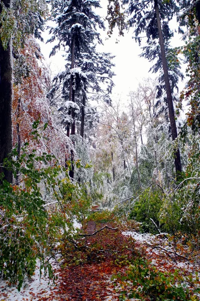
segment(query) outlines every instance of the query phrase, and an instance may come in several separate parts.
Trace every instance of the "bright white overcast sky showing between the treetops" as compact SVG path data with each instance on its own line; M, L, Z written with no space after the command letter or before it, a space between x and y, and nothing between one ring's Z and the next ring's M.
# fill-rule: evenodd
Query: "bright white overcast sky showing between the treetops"
M105 4L105 0L101 1L101 6L102 4ZM102 10L98 10L98 14L105 18L106 6ZM107 25L106 22L105 25ZM49 38L46 32L43 34L43 38L44 41ZM111 38L107 38L105 30L101 34L101 39L103 41L103 45L100 45L98 50L102 52L110 52L115 56L113 59L115 64L113 71L116 75L113 77L115 84L112 93L113 97L117 97L116 95L119 94L120 98L125 100L128 92L135 90L138 82L140 82L143 78L155 77L154 74L148 73L149 68L152 66L152 62L149 63L147 59L139 57L141 49L134 39L132 39L132 29L130 29L128 33L124 33L124 37L118 37L118 32L115 30ZM117 44L116 40L118 41ZM173 39L172 43L173 46L182 44L177 37ZM62 57L63 52L59 51L55 56L49 59L48 56L51 49L52 44L41 44L41 52L44 55L46 62L50 63L50 68L53 74L57 74L59 71L64 69L65 62ZM183 84L180 84L180 89L182 88Z

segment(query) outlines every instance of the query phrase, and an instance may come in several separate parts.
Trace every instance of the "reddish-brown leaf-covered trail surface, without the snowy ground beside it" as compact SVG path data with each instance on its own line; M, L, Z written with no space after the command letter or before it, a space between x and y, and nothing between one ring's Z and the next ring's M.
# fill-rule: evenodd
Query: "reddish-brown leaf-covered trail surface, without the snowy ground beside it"
M85 228L85 233L92 234L95 231L105 227L111 226L108 223L96 224L94 221L88 221ZM123 240L123 236L117 230L103 229L96 235L104 242L102 244L109 245L109 235L112 232L117 233L118 238ZM107 237L108 236L108 237ZM87 244L93 243L94 236L87 238ZM124 242L127 238L124 236ZM110 246L109 246L110 247ZM73 265L70 267L61 268L58 273L58 288L51 290L50 295L47 297L41 296L38 301L51 301L51 300L74 300L74 301L91 301L91 300L119 300L118 293L114 291L114 286L110 281L112 274L122 270L122 267L118 267L113 264L113 258L109 252L105 252L103 260L97 258L97 254L94 252L91 258L87 258L89 263L83 263L82 265Z

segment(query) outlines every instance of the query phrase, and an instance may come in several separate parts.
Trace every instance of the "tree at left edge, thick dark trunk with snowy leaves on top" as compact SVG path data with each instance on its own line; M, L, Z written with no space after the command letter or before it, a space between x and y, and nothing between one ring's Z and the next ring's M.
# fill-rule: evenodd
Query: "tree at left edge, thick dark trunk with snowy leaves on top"
M12 148L12 44L23 43L27 34L39 37L38 28L45 14L45 1L3 0L0 3L0 173L12 182L11 172L2 168Z

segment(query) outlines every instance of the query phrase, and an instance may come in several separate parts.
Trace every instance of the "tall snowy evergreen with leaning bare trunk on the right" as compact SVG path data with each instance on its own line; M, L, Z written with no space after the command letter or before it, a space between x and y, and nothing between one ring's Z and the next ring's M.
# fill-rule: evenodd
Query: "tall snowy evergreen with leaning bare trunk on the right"
M140 33L146 33L147 46L143 47L141 56L150 61L154 60L154 58L158 59L158 62L152 67L152 70L155 72L162 66L163 75L161 80L164 80L164 86L159 85L158 97L163 93L160 88L164 88L172 140L175 140L177 138L177 129L172 92L173 88L177 87L178 76L181 73L178 65L167 63L167 51L169 50L169 41L172 37L168 22L172 19L175 12L178 11L178 6L176 2L163 2L161 0L123 0L122 3L128 4L127 13L130 15L128 24L130 27L134 27L135 40L140 42ZM170 68L171 72L169 72ZM176 176L178 177L181 172L179 148L174 150L174 163Z

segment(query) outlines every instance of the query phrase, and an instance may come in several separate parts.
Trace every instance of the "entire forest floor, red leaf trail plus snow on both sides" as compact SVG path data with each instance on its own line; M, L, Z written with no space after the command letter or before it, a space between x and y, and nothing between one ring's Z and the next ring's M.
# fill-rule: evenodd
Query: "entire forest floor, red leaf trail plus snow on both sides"
M111 276L123 275L130 264L129 260L136 256L151 261L160 271L174 272L179 269L183 275L194 275L200 270L199 253L193 250L188 254L188 246L177 241L174 252L173 240L164 234L141 234L133 224L117 227L116 224L94 221L88 221L83 232L86 235L81 236L84 243L81 242L80 247L75 246L71 254L66 254L61 265L52 262L56 274L54 284L50 282L48 285L48 278L44 275L39 280L37 266L35 274L20 292L1 280L0 301L119 300L124 282L118 281L115 285ZM69 266L68 262L74 264ZM130 289L128 284L125 285L127 290Z

